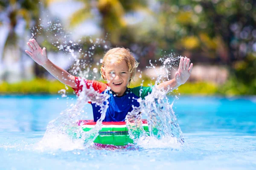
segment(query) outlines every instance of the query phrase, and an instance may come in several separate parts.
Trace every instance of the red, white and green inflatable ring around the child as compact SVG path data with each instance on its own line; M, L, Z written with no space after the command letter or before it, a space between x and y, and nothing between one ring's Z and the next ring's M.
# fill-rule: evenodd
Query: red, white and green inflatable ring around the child
M143 119L142 123L144 130L148 132L148 122ZM96 122L93 122L93 120L79 120L77 124L84 131L89 131L94 128ZM102 129L99 130L99 136L93 142L96 144L113 144L115 146L134 143L128 134L125 122L102 122Z

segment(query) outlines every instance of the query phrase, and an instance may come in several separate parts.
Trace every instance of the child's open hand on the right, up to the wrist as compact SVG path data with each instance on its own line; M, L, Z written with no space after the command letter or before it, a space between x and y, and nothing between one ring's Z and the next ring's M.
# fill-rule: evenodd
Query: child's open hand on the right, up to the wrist
M178 84L184 84L192 72L193 63L190 64L190 59L187 57L180 58L180 65L175 73L175 80Z

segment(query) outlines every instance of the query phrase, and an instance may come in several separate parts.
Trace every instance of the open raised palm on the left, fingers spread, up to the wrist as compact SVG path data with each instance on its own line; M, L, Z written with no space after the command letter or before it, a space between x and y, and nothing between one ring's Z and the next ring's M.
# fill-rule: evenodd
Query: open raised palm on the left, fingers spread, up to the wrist
M29 49L31 52L25 50L26 54L29 55L35 62L37 62L39 65L44 65L48 61L46 49L38 45L38 43L35 41L35 39L29 40L29 42L26 43L29 46Z

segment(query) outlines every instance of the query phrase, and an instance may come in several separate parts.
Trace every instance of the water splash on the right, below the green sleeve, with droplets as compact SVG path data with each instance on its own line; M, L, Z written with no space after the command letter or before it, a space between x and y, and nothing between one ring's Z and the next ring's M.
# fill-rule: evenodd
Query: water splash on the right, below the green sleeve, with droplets
M169 79L167 68L172 68L177 58L169 55L166 59L160 59L160 61L163 62L160 70L165 71L166 74L159 74L155 82L156 84L161 82L163 78ZM153 64L151 64L151 68L155 68ZM184 144L182 131L172 110L174 101L172 104L169 103L166 91L157 89L154 86L151 94L145 96L144 100L138 99L138 102L140 102L140 107L134 108L125 119L129 135L137 146L144 148L177 148ZM145 115L148 120L148 134L142 127L142 115Z

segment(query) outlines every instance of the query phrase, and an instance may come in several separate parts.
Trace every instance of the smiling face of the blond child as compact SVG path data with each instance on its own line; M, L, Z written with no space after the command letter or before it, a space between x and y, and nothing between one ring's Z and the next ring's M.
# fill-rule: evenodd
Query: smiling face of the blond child
M102 69L102 75L107 79L108 86L117 96L122 96L125 93L131 77L125 60L105 65L105 68Z

